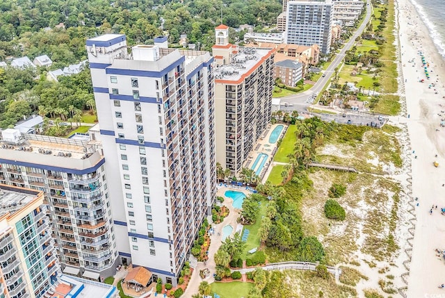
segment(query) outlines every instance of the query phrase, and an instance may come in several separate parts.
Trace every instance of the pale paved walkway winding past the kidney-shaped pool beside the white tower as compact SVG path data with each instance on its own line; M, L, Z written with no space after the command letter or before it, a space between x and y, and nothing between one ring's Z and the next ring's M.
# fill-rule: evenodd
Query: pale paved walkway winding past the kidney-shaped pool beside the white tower
M215 229L215 233L210 236L211 242L209 247L209 260L207 260L206 265L204 265L203 262L197 263L183 297L192 297L192 295L196 294L200 287L201 281L207 281L208 283L213 283L213 281L215 281L213 278L213 273L216 273L216 265L215 261L213 260L213 256L216 254L216 251L218 251L222 244L221 238L223 236L223 227L227 225L232 226L234 228L232 235L236 231L236 226L238 225L236 220L240 215L240 211L232 206L233 200L225 197L224 193L227 190L236 190L243 192L246 195L251 193L248 190L245 190L245 188L225 188L220 186L217 186L217 188L218 191L216 192L216 195L224 198L223 206L229 208L229 215L225 217L224 221L220 224L211 224L211 226ZM211 222L211 218L209 219L209 222ZM206 279L202 279L200 276L200 270L203 270L204 268L208 268L210 270L210 275L207 276Z

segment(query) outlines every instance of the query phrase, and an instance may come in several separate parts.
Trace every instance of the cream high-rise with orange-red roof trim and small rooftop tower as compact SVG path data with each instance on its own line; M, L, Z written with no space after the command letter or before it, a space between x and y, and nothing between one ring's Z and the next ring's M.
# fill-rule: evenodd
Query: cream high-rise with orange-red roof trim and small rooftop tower
M229 43L229 27L216 27L216 160L236 174L270 122L275 49Z

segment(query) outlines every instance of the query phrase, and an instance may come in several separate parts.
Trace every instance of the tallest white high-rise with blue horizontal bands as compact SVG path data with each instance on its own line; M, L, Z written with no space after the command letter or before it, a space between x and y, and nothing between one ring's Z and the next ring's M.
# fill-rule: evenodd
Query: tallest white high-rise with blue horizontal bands
M86 49L122 262L176 284L216 196L213 58L154 42Z

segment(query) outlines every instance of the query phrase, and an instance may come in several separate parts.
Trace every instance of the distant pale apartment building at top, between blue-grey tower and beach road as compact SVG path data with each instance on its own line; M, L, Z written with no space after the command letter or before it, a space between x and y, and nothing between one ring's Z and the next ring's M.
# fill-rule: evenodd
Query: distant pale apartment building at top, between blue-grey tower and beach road
M352 27L364 9L361 0L333 0L332 22L341 26Z

